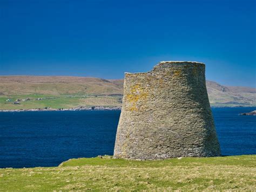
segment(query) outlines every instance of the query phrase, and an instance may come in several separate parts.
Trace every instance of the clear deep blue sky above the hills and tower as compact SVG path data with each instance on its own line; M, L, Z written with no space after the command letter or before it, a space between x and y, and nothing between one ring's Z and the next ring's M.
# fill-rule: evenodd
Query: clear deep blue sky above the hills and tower
M0 75L119 79L161 60L256 87L256 1L0 1Z

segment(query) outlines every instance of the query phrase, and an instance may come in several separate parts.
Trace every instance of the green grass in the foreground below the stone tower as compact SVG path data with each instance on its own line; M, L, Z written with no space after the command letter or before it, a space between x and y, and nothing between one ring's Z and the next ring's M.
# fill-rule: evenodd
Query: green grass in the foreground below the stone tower
M0 169L0 190L256 190L256 155L158 161L71 159L59 167Z

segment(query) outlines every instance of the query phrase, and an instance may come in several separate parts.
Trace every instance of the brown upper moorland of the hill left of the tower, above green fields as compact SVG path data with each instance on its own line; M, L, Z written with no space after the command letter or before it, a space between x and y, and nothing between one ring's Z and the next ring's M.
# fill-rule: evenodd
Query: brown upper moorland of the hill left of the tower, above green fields
M0 94L122 94L117 84L91 77L0 76Z

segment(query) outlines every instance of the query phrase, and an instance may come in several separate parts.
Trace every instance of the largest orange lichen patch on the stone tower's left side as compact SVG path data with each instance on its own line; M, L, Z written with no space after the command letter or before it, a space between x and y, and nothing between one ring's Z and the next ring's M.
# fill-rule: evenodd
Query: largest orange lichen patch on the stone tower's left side
M127 101L129 111L138 111L138 101L145 100L149 94L139 84L133 85L130 88L130 93L124 98Z

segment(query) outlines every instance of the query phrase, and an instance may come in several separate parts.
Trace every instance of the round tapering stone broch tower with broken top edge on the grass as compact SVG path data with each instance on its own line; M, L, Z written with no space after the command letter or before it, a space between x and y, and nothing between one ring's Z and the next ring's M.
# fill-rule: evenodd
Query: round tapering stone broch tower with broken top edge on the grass
M219 155L203 63L161 61L150 72L125 73L115 158Z

